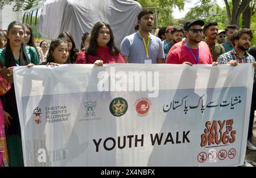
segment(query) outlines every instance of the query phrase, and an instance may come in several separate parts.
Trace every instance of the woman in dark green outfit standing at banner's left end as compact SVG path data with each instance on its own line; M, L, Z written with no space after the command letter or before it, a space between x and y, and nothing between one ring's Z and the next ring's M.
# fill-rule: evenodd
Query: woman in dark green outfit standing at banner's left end
M23 44L25 28L26 26L20 22L11 22L7 31L6 48L0 49L1 67L5 66L9 69L10 75L13 73L14 66L29 66L31 63L38 65L39 62L35 48ZM14 84L11 84L11 89L1 99L3 99L3 107L6 111L6 138L10 166L23 166L22 141Z

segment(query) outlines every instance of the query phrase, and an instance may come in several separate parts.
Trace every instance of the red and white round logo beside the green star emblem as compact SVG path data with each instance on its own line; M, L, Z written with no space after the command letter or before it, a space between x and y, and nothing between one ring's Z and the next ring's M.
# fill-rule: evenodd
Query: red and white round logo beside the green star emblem
M151 101L148 98L141 98L134 105L139 116L146 116L150 110Z

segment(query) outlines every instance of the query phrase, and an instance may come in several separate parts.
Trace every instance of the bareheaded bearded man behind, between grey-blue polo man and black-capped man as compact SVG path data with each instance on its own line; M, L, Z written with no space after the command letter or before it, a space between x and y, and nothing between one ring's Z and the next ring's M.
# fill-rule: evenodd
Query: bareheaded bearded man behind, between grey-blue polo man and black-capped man
M179 43L184 37L184 29L182 27L174 27L171 30L172 41L164 45L164 57L167 57L169 50L176 43Z

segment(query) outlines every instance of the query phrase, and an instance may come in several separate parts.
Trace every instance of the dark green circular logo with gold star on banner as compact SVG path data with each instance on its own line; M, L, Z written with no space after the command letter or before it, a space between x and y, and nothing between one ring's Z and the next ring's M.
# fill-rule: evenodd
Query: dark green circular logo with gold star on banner
M123 98L115 98L109 105L109 110L115 117L123 116L128 109L128 103Z

